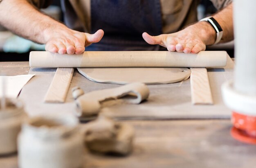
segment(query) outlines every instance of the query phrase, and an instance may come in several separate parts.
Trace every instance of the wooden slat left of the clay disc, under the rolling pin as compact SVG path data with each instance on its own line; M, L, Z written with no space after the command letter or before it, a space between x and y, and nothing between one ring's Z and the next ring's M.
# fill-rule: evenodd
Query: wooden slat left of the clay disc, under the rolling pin
M74 68L57 68L52 83L45 96L46 103L64 103Z

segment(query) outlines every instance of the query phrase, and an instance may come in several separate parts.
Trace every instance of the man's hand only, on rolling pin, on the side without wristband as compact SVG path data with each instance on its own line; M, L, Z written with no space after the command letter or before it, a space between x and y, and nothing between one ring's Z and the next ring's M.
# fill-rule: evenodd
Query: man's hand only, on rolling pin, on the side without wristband
M104 35L103 30L98 30L94 34L82 33L71 30L67 27L59 30L50 29L50 33L45 31L46 45L45 50L50 52L58 52L60 54L81 54L85 47L92 43L97 43Z

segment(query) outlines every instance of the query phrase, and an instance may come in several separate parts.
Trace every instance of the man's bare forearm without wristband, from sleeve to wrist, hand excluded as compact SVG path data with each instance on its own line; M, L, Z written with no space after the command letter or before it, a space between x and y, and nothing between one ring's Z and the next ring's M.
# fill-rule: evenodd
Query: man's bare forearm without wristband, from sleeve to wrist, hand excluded
M2 0L0 24L17 35L41 44L45 44L49 39L47 31L50 27L66 28L65 25L40 13L26 0Z

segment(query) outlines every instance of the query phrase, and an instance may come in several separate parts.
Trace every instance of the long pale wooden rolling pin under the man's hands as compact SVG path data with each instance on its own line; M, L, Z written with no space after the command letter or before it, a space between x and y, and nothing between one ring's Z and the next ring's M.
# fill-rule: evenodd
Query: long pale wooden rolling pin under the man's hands
M32 51L30 67L92 68L92 67L223 67L225 51L201 51L198 54L169 51L85 51L80 55L60 55Z

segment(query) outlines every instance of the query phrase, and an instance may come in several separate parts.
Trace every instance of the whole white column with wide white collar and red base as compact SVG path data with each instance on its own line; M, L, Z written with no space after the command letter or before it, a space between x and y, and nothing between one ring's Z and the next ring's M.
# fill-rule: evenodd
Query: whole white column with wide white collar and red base
M231 135L251 144L256 144L255 6L251 0L234 2L235 76L222 85L224 102L233 111Z

